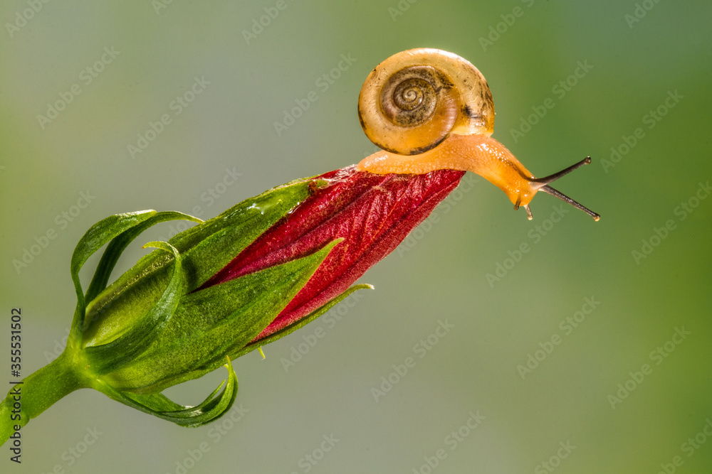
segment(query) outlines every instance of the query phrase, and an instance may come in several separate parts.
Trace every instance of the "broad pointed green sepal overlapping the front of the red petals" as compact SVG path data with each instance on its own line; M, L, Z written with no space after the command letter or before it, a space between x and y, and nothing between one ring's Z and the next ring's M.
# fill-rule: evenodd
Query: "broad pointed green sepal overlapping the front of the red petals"
M341 240L184 296L159 338L130 365L103 378L118 389L155 393L215 370L278 316Z

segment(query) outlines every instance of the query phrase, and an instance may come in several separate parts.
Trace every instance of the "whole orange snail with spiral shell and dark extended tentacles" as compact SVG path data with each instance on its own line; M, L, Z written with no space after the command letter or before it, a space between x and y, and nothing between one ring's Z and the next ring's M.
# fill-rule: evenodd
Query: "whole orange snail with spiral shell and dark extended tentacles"
M496 139L494 102L487 81L468 60L447 51L419 48L376 66L361 89L361 126L382 151L364 158L359 171L422 174L438 169L472 171L503 190L532 219L529 203L543 191L599 220L549 184L591 163L591 158L545 178L535 178Z

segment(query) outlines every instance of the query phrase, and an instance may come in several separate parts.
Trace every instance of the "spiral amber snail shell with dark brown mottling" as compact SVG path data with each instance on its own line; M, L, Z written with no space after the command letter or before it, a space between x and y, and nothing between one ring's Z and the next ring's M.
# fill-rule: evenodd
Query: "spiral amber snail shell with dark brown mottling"
M489 136L494 129L492 92L481 72L431 48L377 65L361 89L358 114L368 138L399 155L423 153L451 134Z

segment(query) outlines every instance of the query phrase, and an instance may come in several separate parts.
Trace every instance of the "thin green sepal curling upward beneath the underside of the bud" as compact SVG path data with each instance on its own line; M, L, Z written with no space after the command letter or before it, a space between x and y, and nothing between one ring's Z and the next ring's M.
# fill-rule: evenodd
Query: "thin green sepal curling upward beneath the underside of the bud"
M166 421L172 421L179 426L195 428L218 419L228 411L237 397L237 375L230 359L224 367L228 370L228 378L221 382L204 401L197 406L182 406L172 402L162 394L131 394L120 392L109 384L99 383L94 388L111 399L127 406L157 416ZM227 383L226 383L227 382ZM220 389L224 389L220 392Z

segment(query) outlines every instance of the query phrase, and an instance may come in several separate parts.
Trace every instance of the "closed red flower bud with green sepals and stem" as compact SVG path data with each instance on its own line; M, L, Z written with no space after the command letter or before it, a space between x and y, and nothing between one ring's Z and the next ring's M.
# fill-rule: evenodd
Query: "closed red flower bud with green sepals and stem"
M80 239L71 261L77 293L67 348L26 379L21 425L74 389L200 426L234 402L231 359L313 321L454 190L462 171L376 175L355 166L268 190L202 222L180 212L112 215ZM199 222L108 285L118 258L147 228ZM79 271L107 244L86 292ZM198 406L160 392L224 365L229 377ZM57 374L57 377L53 377ZM9 408L8 399L0 414ZM6 426L0 424L0 436ZM6 439L6 437L5 437Z

